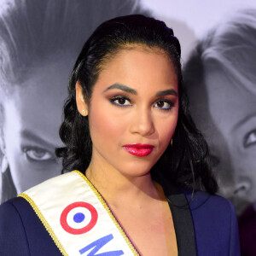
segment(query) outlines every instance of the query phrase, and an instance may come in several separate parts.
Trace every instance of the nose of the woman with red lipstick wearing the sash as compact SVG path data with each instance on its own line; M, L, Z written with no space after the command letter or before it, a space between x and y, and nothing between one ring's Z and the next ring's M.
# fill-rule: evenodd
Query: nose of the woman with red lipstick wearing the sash
M147 110L135 113L130 127L131 133L138 133L141 136L149 136L154 133L154 120L152 113Z

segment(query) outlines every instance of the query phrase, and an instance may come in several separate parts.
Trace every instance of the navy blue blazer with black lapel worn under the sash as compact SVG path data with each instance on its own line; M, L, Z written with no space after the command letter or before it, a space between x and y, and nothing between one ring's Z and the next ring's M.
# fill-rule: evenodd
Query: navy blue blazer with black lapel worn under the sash
M230 201L205 192L165 190L172 210L179 256L239 256L236 213ZM60 256L44 225L20 197L0 206L1 256Z

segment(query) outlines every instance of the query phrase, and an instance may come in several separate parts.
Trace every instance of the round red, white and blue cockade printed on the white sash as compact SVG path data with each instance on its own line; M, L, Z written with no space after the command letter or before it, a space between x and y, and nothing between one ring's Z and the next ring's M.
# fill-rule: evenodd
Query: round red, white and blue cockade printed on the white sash
M61 227L73 235L81 235L90 231L97 222L98 212L91 204L77 201L68 205L61 212Z

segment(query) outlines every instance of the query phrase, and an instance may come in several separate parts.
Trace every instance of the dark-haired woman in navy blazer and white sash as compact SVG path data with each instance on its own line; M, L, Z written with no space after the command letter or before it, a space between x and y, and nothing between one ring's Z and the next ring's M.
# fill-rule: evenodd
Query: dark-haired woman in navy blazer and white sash
M213 195L172 29L143 15L104 22L68 90L66 147L56 151L67 173L0 207L3 253L239 255L234 208Z

